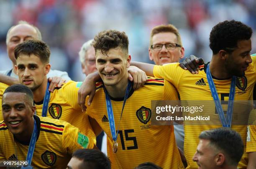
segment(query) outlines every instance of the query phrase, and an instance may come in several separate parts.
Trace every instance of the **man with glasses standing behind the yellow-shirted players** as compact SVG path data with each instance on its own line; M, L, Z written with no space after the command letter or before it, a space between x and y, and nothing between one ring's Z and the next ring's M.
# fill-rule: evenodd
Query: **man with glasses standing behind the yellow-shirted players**
M184 47L179 30L172 24L159 25L151 30L149 42L149 59L156 65L179 62L184 57ZM175 123L175 122L174 122ZM181 151L184 149L183 125L174 125L176 144ZM186 161L181 152L182 160Z

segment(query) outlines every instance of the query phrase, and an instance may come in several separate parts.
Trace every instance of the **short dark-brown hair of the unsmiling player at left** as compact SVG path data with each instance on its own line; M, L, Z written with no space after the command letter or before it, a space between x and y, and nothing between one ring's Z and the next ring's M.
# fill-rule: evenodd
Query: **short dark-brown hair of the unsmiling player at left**
M15 59L21 54L29 56L34 54L38 56L43 63L49 63L51 52L49 46L41 40L25 40L14 49Z

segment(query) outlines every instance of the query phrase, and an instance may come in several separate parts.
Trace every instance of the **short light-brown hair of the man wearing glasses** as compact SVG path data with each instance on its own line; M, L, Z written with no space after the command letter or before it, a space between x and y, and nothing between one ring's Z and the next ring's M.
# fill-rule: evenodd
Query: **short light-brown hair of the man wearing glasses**
M178 44L182 46L182 40L181 40L181 37L179 35L179 30L174 25L172 25L172 24L159 25L159 26L154 27L151 30L149 46L153 45L152 44L152 38L157 33L174 33L177 36Z

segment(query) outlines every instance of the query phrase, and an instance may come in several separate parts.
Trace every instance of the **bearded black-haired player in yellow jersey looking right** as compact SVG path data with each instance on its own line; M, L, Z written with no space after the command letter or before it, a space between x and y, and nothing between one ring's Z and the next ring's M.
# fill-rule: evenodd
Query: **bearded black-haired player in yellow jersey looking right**
M207 65L210 65L210 73L221 100L229 99L232 76L237 76L235 100L249 100L256 82L256 56L250 55L251 34L252 29L250 27L235 20L224 21L215 25L210 33L212 60L202 66L199 73L195 75L180 68L179 63L165 66L154 66L146 63L134 63L133 65L146 71L149 76L154 75L171 82L177 88L181 100L213 100L206 76ZM218 118L214 106L210 107L209 110L207 109L207 112ZM220 126L184 126L184 154L188 163L187 168L197 168L197 164L192 161L199 141L197 136L201 131L217 127ZM241 134L246 145L247 126L231 125L231 128ZM238 164L239 169L246 168L246 156L247 154L244 153Z

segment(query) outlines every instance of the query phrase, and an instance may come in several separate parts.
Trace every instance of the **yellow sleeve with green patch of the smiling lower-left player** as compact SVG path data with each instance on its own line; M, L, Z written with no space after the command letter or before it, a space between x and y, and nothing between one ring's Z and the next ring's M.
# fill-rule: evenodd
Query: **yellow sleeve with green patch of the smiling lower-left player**
M92 134L81 133L79 129L72 126L69 123L64 125L64 130L62 134L62 147L68 153L72 154L77 149L93 149L95 147Z

